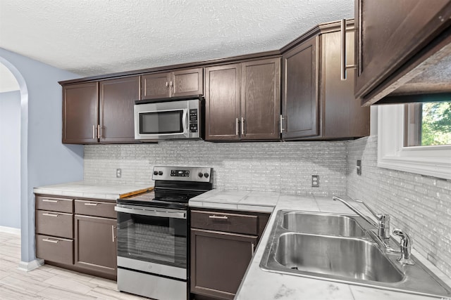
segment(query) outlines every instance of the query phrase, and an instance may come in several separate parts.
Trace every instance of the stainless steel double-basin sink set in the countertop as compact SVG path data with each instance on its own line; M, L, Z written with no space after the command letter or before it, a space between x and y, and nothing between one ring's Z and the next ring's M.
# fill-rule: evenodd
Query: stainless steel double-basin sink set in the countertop
M371 230L373 226L357 215L278 211L260 268L412 294L451 296L450 287L415 257L414 266L397 262L399 244L390 240L393 247L381 247Z

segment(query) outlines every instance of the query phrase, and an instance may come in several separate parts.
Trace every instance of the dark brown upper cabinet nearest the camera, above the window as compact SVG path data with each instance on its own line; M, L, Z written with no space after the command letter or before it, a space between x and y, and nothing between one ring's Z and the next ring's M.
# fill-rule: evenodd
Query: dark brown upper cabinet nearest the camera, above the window
M355 18L362 105L451 98L451 1L356 0Z

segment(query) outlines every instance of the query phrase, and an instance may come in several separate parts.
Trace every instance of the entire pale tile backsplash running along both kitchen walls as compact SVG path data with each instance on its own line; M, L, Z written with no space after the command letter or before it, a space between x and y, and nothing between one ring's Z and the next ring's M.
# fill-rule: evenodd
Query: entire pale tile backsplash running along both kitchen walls
M357 159L362 175L357 175ZM451 181L377 167L377 136L355 141L85 145L85 181L149 184L156 165L214 168L214 187L348 195L392 217L414 248L451 277ZM116 178L116 169L122 177ZM319 188L311 187L319 175Z

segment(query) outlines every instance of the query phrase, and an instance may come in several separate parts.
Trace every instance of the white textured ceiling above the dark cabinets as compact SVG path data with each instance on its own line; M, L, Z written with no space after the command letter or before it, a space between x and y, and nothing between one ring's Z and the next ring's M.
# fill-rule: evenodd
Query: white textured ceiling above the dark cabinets
M91 76L276 50L354 0L0 0L0 48Z

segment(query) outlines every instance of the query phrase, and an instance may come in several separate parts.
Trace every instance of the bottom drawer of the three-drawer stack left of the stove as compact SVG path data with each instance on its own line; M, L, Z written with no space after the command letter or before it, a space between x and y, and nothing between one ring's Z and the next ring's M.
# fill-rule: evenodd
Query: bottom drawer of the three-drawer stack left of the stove
M73 264L73 240L36 235L36 257L71 265Z

